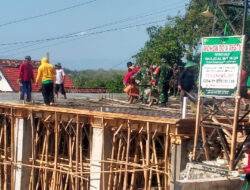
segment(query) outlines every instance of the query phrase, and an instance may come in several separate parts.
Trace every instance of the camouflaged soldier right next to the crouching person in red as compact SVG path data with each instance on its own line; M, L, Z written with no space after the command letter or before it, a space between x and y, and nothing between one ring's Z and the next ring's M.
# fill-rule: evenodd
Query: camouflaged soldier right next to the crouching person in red
M136 80L139 80L139 95L142 103L146 104L148 97L144 95L144 89L150 87L151 72L147 63L143 64L143 67L136 73Z

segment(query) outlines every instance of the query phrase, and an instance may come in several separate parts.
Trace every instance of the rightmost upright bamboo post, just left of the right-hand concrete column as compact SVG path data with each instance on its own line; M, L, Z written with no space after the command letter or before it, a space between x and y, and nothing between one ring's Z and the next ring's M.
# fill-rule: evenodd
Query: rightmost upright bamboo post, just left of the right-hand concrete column
M169 124L166 126L166 134L165 134L165 152L164 152L164 187L165 190L168 190L168 151L169 151ZM169 172L168 172L169 173Z

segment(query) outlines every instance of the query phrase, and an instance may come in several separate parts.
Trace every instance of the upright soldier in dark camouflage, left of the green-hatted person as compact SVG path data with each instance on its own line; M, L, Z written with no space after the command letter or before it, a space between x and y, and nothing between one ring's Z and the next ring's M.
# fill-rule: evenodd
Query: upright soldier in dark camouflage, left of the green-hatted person
M159 66L159 81L158 81L158 88L159 88L159 101L160 106L165 107L166 102L168 101L168 91L169 91L169 82L171 79L171 68L166 63L164 59L160 60L160 66Z

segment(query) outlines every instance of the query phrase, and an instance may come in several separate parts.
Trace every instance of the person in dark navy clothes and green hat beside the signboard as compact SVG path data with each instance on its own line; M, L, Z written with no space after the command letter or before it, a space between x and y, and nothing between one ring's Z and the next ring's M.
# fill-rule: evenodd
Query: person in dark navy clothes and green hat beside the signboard
M189 100L194 103L194 100L190 98L190 95L192 97L195 97L195 73L194 73L194 67L197 66L196 63L192 61L188 61L186 65L184 66L185 70L183 70L179 76L178 79L178 88L180 89L180 99L181 99L181 108L183 103L183 98L187 96Z

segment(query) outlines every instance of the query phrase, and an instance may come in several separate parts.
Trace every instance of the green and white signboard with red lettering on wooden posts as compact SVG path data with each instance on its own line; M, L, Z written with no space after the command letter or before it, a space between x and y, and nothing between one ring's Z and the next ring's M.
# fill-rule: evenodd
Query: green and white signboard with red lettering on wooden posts
M244 36L202 38L199 96L237 97Z

